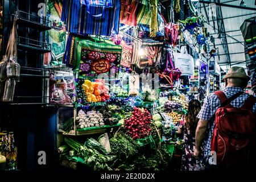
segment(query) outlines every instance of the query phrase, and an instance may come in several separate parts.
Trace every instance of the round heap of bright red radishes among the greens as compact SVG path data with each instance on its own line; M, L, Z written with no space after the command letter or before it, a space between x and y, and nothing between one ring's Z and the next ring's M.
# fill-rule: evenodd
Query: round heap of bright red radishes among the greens
M147 109L134 108L133 115L125 119L126 134L133 139L148 137L151 133L152 116Z

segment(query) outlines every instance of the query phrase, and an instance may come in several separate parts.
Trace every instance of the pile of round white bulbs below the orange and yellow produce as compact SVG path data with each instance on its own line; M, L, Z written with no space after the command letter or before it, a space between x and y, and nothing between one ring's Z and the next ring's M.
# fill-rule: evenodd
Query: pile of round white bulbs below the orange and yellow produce
M79 110L78 116L76 117L77 123L81 129L86 127L104 126L103 115L100 111L87 111Z

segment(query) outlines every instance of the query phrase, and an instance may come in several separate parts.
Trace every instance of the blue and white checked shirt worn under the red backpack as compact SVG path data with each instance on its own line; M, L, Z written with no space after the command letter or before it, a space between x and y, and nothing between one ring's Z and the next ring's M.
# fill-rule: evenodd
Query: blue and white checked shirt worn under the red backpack
M223 92L225 93L226 97L229 98L238 92L243 92L243 90L238 87L228 87L225 88ZM249 94L243 93L241 96L230 102L230 104L234 107L242 107L243 103L247 100L248 97ZM221 102L218 99L217 95L214 93L210 94L207 98L205 98L204 105L200 110L199 114L197 115L197 118L209 121L217 111L218 107L220 107L220 105ZM253 112L256 113L256 104L253 106ZM206 158L210 152L210 140L212 139L212 133L214 130L213 123L214 121L209 121L209 135L207 139L207 144L205 146L204 158Z

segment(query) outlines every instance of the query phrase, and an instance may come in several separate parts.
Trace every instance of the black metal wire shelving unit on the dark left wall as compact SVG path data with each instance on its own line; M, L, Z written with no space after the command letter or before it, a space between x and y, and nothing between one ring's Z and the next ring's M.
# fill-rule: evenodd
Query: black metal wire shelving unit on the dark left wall
M14 19L17 24L18 62L21 67L20 79L16 83L14 100L10 105L46 106L49 104L50 69L43 69L43 65L39 60L40 54L51 52L51 44L43 42L43 31L50 30L52 22L45 17L24 11L12 13L10 16L11 22ZM24 55L22 55L23 53ZM34 62L28 63L28 59L32 60L28 53L36 53ZM35 89L31 90L31 85Z

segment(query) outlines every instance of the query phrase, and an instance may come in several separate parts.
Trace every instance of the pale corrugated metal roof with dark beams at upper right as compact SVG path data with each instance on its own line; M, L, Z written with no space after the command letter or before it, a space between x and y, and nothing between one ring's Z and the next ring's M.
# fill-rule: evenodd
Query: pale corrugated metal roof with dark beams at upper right
M208 3L203 3L203 2L208 2ZM228 64L228 51L224 49L224 47L221 45L221 39L218 38L217 34L217 20L213 16L211 16L211 10L210 7L214 6L209 6L209 2L214 3L214 1L210 0L204 0L200 1L200 3L197 4L197 7L200 8L199 11L201 11L201 14L204 15L204 17L209 17L209 23L205 23L205 27L208 28L208 32L215 38L215 44L218 45L218 51L220 54L220 60L218 60L218 56L216 56L216 59L218 60L219 64ZM226 5L234 5L234 6L240 6L241 0L220 0L216 1L221 4L226 4ZM245 7L254 7L255 6L255 1L252 0L243 0L245 3ZM204 5L205 4L205 9L207 16L205 14L204 10ZM225 32L226 32L226 40L228 43L228 49L230 53L230 61L231 64L238 63L241 61L245 61L245 55L244 53L244 46L243 46L243 36L242 32L240 31L240 27L242 23L246 20L249 19L253 16L256 16L256 11L255 10L246 10L246 9L239 9L237 7L226 7L220 5L220 9L222 12L222 18L223 18L223 23L225 27ZM217 9L215 11L220 11L220 9ZM220 17L218 17L220 18ZM216 30L214 31L214 27ZM224 36L224 35L221 35ZM225 55L224 55L225 54Z

